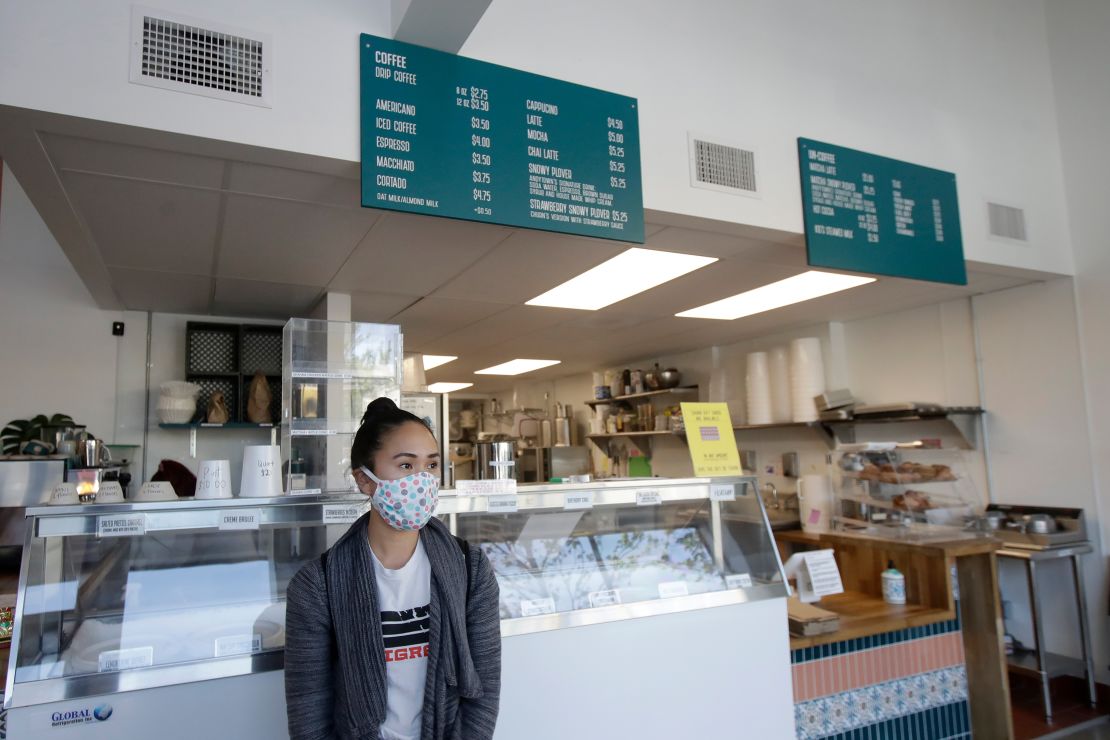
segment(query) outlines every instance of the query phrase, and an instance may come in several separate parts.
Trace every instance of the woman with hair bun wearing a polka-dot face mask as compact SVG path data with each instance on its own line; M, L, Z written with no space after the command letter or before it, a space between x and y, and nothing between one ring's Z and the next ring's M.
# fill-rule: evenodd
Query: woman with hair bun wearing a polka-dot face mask
M292 740L481 740L501 692L497 581L436 519L440 452L389 398L366 407L351 467L371 510L290 581Z

